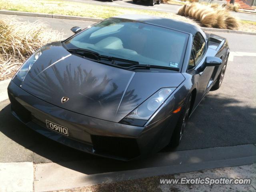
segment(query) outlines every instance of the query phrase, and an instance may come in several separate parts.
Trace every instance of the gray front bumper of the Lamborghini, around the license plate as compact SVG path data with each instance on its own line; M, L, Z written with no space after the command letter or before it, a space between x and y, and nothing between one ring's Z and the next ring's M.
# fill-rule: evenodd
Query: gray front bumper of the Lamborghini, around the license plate
M13 81L8 86L8 95L14 116L36 132L72 148L119 160L131 160L162 149L170 141L178 119L170 115L146 127L100 120L45 102ZM69 136L46 128L46 119L68 128Z

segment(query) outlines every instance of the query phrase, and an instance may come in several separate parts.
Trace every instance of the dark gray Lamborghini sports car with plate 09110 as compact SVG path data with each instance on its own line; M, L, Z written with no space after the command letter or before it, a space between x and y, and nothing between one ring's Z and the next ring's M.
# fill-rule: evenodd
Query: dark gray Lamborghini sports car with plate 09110
M131 160L177 146L220 87L225 38L167 18L124 15L37 50L8 86L12 113L44 136Z

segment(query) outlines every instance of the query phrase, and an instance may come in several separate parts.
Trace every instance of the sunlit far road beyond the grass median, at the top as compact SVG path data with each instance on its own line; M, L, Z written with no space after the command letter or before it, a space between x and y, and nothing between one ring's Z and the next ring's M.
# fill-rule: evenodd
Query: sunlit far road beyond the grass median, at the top
M162 11L162 12L170 12L170 13L177 13L178 9L180 8L180 5L170 5L170 4L148 6L147 2L143 2L143 1L138 1L137 4L134 4L132 0L114 0L114 2L108 2L106 0L105 1L104 0L65 0L65 1L84 2L84 3L96 4L96 5L108 5L108 6L115 6L115 7L135 8L135 9ZM230 13L241 20L256 21L256 14L237 13L237 12L230 12Z

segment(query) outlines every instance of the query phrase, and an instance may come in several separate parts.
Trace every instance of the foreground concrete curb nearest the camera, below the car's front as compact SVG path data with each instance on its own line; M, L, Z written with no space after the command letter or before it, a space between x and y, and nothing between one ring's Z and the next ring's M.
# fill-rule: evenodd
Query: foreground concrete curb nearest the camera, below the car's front
M254 163L256 156L226 159L218 161L200 162L194 164L181 164L172 166L152 167L120 172L108 172L102 174L86 175L55 163L36 164L36 176L34 182L35 192L65 190L77 187L92 186L97 184L110 184L124 180L135 180L160 175L172 175L201 171L223 167L242 166ZM58 174L48 176L51 170L57 170ZM62 182L53 182L54 180Z

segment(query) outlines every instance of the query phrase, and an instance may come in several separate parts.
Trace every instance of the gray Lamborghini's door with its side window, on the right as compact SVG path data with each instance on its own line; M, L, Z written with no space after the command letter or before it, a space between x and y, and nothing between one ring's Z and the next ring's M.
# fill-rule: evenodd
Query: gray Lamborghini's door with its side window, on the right
M195 103L200 102L211 87L210 79L214 67L204 66L206 56L206 42L202 35L198 32L193 38L192 51L187 71L189 74L194 76L194 83L197 84L197 97Z

